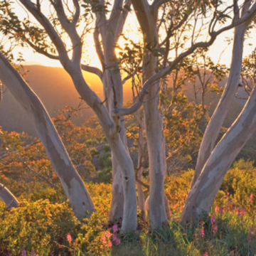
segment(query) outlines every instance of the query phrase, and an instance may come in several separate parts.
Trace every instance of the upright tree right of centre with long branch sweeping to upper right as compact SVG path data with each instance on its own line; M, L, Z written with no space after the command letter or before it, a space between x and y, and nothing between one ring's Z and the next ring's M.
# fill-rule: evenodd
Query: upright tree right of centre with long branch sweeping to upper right
M159 80L159 78L164 77L164 75L167 75L172 70L174 70L176 65L181 62L183 58L193 53L197 48L206 48L210 46L213 41L215 41L215 38L216 36L218 36L219 33L233 27L235 23L240 23L240 21L242 21L243 19L246 22L238 26L237 30L239 30L239 28L245 29L247 28L248 23L250 23L252 18L255 16L255 5L252 6L251 9L248 11L250 3L246 2L242 10L242 16L238 17L239 8L238 3L235 2L235 17L233 18L232 25L221 28L219 31L214 31L216 23L221 20L225 15L223 14L223 12L218 11L218 2L216 2L215 4L210 4L210 8L214 9L213 19L210 21L210 26L208 28L210 40L207 42L195 43L193 41L195 35L193 34L191 36L191 47L189 47L180 55L176 56L176 58L174 58L174 60L172 60L169 65L167 65L167 67L165 67L166 61L164 61L164 68L161 68L158 73L155 73L155 70L157 70L159 65L159 63L157 62L157 55L154 55L154 50L159 50L159 34L157 31L158 11L159 7L166 2L167 1L154 1L153 4L149 5L148 1L132 1L134 11L137 14L137 18L142 28L142 33L144 34L144 47L146 48L144 53L144 87L142 88L142 92L139 95L139 102L137 102L137 104L130 107L129 110L119 111L119 114L131 114L132 112L137 111L142 103L144 106L146 138L147 146L149 149L149 218L151 220L151 225L154 228L159 228L161 225L167 223L164 210L164 155L162 147L163 137L161 132L162 120L161 114L159 113L158 109L159 98L157 95L159 93L159 83L157 81ZM171 8L172 10L174 10L175 13L177 6L174 3L171 4ZM197 3L196 5L193 4L193 2L189 2L188 4L186 3L186 7L183 7L183 9L181 8L182 4L181 6L179 6L179 14L181 14L181 10L184 11L184 14L183 18L180 18L180 20L177 18L177 23L174 23L174 17L173 15L171 15L172 23L167 31L167 36L164 39L164 42L166 42L167 54L169 53L169 40L171 36L174 35L174 31L176 31L178 28L181 28L184 23L186 24L186 21L188 21L191 12L197 9L199 3ZM201 6L202 13L205 13L206 9L204 8L207 8L206 6L207 3L203 3L203 6ZM245 16L247 17L245 18ZM198 36L195 36L195 38L198 38ZM240 38L240 41L243 41L243 38ZM166 58L168 58L168 55L164 58L164 60L166 60ZM115 114L117 114L118 111L115 111ZM158 192L156 193L156 191Z

